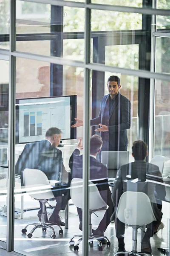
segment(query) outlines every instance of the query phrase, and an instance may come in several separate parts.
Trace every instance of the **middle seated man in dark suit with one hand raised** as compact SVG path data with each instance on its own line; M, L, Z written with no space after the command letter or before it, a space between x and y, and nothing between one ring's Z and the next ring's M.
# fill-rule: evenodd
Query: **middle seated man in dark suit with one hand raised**
M74 150L70 157L69 166L73 178L82 178L82 161L83 157L80 156L80 151L82 147L82 139L80 139L77 149ZM113 203L111 201L111 191L108 186L108 169L98 160L96 160L96 155L100 152L102 147L102 139L99 135L93 135L90 139L90 180L93 183L98 183L97 188L99 189L100 195L105 203L108 205L108 209L105 212L102 221L98 228L93 232L94 236L104 236L104 232L108 227L113 212ZM95 181L96 180L96 181ZM82 210L77 208L79 215L79 229L82 230ZM105 240L105 239L104 239ZM104 242L104 241L103 241Z

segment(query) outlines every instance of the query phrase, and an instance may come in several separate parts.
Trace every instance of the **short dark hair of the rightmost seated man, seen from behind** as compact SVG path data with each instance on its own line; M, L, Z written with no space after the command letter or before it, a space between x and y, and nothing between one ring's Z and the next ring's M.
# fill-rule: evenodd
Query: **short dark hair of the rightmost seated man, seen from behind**
M142 140L136 140L133 142L132 153L135 160L144 160L147 155L147 144Z

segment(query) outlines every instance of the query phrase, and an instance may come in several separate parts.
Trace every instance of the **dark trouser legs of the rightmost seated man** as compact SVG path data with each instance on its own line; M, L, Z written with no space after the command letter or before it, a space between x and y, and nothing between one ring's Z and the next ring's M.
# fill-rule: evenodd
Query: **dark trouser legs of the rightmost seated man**
M156 209L155 217L156 217L156 221L153 221L152 223L147 225L146 234L147 234L148 237L153 236L154 231L157 230L157 228L159 227L159 224L161 222L162 212L158 208ZM116 237L119 238L119 239L124 238L124 236L125 236L125 223L122 223L121 221L119 221L118 218L115 218L115 229L116 229Z

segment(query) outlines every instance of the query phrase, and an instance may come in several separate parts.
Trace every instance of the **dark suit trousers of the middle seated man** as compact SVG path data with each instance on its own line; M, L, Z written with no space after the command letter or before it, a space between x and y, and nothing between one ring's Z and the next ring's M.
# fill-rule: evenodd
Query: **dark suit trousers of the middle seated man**
M108 192L108 198L102 198L105 203L108 205L108 209L105 211L105 214L102 218L102 220L99 223L98 229L105 232L105 230L107 229L108 225L110 224L110 218L111 215L114 211L114 207L113 207L113 202L111 201L111 192ZM77 207L77 212L79 215L79 221L82 221L82 209Z

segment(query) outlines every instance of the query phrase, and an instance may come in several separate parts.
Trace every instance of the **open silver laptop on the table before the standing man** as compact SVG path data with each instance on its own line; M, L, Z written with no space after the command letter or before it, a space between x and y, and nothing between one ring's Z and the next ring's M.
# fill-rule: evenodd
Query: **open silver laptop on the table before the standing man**
M129 163L129 151L102 151L101 163L107 165L108 177L116 177L120 166Z

